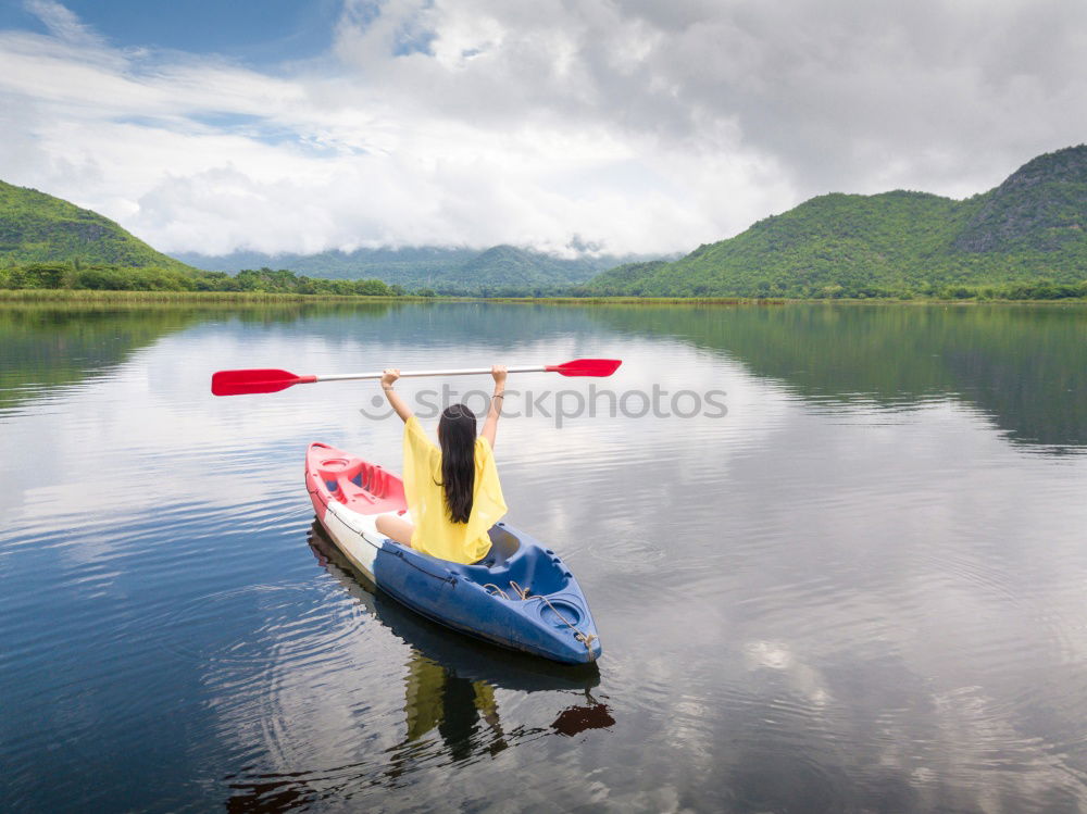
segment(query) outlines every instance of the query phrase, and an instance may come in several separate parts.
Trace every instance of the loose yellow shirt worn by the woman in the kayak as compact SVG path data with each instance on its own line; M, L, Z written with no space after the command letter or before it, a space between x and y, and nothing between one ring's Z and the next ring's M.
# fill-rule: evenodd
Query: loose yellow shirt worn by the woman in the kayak
M453 523L441 487L441 450L413 415L404 423L404 496L415 523L413 549L454 563L474 563L490 551L487 530L505 515L495 453L484 437L475 442L475 488L467 523Z

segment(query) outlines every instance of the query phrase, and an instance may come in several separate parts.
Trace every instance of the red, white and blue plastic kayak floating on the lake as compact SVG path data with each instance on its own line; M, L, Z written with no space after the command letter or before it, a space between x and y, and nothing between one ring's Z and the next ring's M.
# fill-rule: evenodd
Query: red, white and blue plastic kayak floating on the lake
M311 443L305 489L328 537L379 589L446 627L557 662L600 658L600 638L577 580L551 549L505 523L491 548L462 565L377 531L389 512L411 519L403 481L378 464Z

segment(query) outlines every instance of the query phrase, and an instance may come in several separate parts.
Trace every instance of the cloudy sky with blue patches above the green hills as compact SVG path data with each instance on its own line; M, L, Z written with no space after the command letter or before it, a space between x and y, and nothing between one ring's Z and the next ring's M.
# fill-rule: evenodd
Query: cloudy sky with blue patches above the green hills
M687 252L1087 141L1083 0L0 0L0 179L163 251Z

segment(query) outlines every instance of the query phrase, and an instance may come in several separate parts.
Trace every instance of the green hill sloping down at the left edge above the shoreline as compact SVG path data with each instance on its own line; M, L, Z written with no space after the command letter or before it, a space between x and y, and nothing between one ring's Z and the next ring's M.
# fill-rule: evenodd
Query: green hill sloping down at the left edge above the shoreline
M0 181L0 264L58 261L192 271L97 212Z

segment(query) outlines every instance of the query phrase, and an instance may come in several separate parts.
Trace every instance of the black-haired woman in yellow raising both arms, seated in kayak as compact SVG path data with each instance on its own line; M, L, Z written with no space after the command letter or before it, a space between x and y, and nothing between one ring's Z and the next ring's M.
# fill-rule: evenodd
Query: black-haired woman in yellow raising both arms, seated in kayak
M426 437L393 384L400 371L388 368L382 388L404 422L404 494L414 525L396 514L377 518L377 530L402 546L455 563L478 562L490 551L487 530L505 514L495 468L495 433L505 391L505 367L491 367L495 395L476 438L476 417L463 404L446 408L438 443Z

